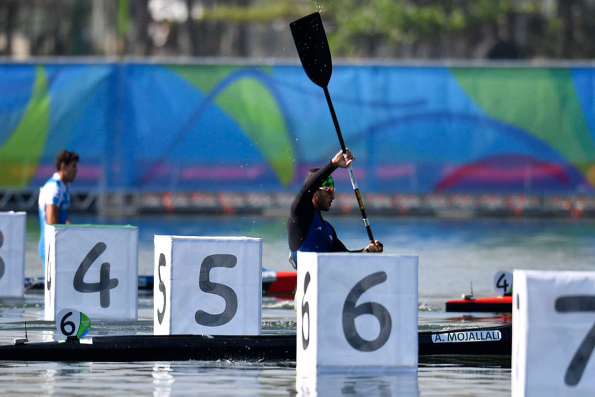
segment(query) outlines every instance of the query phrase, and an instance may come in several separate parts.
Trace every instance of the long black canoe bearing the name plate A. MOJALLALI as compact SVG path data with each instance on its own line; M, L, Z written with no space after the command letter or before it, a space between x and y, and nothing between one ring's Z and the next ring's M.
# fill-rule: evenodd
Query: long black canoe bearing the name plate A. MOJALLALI
M22 342L22 340L21 340ZM472 356L510 361L512 326L421 331L419 356ZM2 361L295 361L296 335L131 335L67 339L63 342L0 345ZM501 358L502 360L502 358Z

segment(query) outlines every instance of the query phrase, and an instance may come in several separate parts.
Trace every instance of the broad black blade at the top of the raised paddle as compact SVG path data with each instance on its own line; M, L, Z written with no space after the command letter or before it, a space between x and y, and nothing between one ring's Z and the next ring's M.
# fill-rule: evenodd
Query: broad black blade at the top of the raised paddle
M289 24L303 70L315 85L326 87L333 73L331 51L318 12Z

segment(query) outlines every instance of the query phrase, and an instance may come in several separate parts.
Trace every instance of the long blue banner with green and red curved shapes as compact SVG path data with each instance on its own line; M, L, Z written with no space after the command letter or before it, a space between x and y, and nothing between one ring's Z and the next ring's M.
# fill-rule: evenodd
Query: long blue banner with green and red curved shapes
M594 191L595 68L342 64L329 90L364 191ZM62 148L74 189L267 192L339 143L297 64L0 64L0 189Z

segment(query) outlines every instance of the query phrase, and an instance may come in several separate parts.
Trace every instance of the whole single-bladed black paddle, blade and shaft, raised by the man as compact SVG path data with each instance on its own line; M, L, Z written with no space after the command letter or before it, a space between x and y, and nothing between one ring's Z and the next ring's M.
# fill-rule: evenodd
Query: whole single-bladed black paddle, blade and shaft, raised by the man
M314 12L314 14L293 21L289 24L289 27L292 30L293 41L295 42L299 59L302 61L303 70L306 71L306 74L308 74L308 77L315 85L324 89L324 96L327 98L328 109L331 111L331 117L333 118L335 130L337 131L337 137L339 137L341 149L343 150L343 154L346 154L347 149L345 148L345 142L341 135L339 121L334 112L331 96L328 93L327 86L331 79L331 73L333 73L333 63L331 62L331 51L328 48L327 35L324 32L320 14ZM370 229L368 217L364 210L364 202L362 201L362 196L359 194L358 183L355 180L351 165L347 166L347 171L349 171L351 185L353 186L353 191L358 199L359 210L362 212L362 218L364 219L364 225L368 232L368 238L370 242L374 242L372 229Z

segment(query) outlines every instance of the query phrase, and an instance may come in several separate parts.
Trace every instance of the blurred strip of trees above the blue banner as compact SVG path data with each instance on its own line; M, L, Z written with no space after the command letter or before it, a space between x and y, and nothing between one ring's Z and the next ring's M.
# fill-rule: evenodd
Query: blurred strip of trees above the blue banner
M337 57L595 57L595 0L0 0L0 54L293 57L314 11Z

